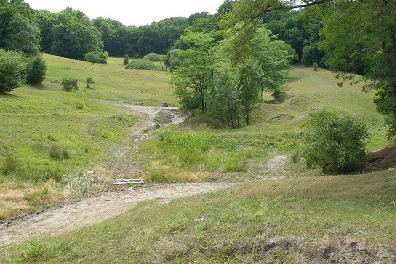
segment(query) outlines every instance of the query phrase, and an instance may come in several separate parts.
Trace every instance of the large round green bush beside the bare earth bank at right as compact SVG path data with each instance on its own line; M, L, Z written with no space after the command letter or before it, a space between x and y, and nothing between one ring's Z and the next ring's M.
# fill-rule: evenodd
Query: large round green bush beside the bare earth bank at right
M326 174L362 171L366 162L366 125L347 114L320 110L304 124L301 157L308 168Z

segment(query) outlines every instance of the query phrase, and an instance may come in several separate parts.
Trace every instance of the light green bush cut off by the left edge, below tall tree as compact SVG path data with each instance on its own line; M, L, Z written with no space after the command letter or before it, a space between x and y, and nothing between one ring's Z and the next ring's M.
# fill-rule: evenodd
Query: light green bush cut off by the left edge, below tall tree
M21 53L0 49L0 93L20 87L25 81L26 63Z

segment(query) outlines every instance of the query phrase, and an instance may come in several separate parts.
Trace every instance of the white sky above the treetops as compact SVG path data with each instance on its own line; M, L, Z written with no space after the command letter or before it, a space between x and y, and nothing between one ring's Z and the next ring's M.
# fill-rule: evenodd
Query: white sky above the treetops
M112 18L125 25L146 25L168 17L207 11L215 13L224 0L25 0L33 9L59 12L66 7L88 17Z

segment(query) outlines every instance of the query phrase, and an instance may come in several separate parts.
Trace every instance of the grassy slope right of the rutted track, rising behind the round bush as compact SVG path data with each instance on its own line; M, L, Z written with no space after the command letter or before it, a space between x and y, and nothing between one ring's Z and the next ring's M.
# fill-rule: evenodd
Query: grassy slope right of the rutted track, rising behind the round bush
M157 138L141 148L147 157L153 157L144 170L146 180L172 182L268 177L266 160L275 153L292 154L300 143L302 121L312 111L323 108L345 111L363 119L371 133L368 151L390 144L386 138L384 116L376 111L372 101L373 93L363 93L359 85L340 88L337 82L330 71L295 66L282 89L283 100L276 102L269 93L265 94L264 102L259 103L253 113L250 126L230 130L213 118L199 115L177 127L167 128L167 131L172 130L172 144ZM189 146L183 143L186 141L185 129L194 131L188 137ZM205 149L201 140L205 137L214 137L218 143L207 144L209 147ZM237 148L224 148L224 145ZM288 170L295 174L294 168Z

